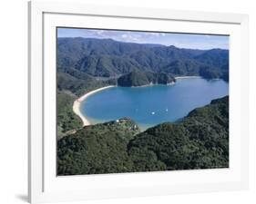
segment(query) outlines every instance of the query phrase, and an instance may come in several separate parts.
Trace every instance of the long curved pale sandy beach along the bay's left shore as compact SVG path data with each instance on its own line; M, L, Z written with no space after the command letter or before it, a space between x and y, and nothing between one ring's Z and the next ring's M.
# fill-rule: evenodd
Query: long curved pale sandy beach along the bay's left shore
M78 99L73 103L73 112L75 112L75 113L81 118L81 120L83 121L83 126L90 125L90 122L89 122L89 121L87 120L87 118L82 114L82 112L80 112L80 105L81 105L81 102L83 102L84 100L86 100L88 96L90 96L90 95L92 95L92 94L94 94L94 93L96 93L96 92L100 92L100 91L102 91L102 90L111 88L111 87L115 87L115 86L105 86L105 87L96 89L96 90L94 90L94 91L87 92L85 95L82 95L80 98L78 98Z

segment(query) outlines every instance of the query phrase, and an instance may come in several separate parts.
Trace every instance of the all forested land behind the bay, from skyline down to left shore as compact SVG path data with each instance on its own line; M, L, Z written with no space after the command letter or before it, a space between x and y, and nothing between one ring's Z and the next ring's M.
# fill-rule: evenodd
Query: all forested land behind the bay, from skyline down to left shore
M77 97L103 86L167 84L179 75L229 81L228 50L179 49L81 37L58 38L56 45L58 135L81 125L72 112Z

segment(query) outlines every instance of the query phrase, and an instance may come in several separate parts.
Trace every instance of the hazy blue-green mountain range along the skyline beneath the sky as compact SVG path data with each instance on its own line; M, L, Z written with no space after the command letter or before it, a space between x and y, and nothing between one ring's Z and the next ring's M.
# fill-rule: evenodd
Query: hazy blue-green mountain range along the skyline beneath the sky
M173 45L135 44L112 39L58 38L57 70L118 77L133 71L200 75L229 80L229 50L196 50Z

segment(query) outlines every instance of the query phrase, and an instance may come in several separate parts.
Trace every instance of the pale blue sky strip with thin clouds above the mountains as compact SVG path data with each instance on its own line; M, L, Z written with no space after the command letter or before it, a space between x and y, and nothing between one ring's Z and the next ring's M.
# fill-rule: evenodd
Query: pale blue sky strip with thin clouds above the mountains
M158 32L135 32L85 28L57 28L57 37L110 38L115 41L138 44L164 44L179 48L208 50L229 49L229 36L209 34L174 34Z

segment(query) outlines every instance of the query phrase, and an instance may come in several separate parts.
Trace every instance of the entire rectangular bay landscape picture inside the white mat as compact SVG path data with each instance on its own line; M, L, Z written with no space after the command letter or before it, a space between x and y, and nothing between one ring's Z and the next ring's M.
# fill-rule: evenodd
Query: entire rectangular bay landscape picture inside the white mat
M56 176L230 167L229 34L56 27Z

